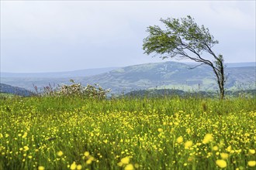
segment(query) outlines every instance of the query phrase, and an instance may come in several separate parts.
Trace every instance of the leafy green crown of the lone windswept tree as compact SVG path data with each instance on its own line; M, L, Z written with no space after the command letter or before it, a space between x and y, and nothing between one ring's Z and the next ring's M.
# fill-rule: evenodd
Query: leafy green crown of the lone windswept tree
M198 26L191 16L179 19L161 19L165 30L160 26L149 26L147 32L149 36L144 39L145 53L161 54L161 58L168 57L189 57L185 51L192 53L210 52L215 44L218 43L209 33L209 29ZM201 60L199 56L192 56L195 61ZM194 59L193 59L194 60Z

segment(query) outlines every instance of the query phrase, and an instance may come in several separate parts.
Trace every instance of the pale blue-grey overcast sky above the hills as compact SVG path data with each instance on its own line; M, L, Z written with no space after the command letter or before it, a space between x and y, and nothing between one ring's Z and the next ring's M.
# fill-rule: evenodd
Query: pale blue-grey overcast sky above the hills
M148 26L191 15L226 63L255 62L255 1L1 1L1 72L177 61L144 54ZM183 60L179 62L189 62Z

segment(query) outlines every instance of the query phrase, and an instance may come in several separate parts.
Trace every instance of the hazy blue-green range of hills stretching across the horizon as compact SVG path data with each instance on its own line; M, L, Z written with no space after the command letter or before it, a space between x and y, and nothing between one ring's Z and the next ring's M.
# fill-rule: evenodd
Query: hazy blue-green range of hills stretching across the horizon
M103 88L112 89L112 93L126 93L144 89L175 89L175 90L218 90L213 70L209 66L199 66L191 70L191 64L164 62L126 66L100 73L94 76L72 77L75 82L99 83ZM227 67L228 90L255 89L255 66ZM69 84L69 78L42 77L1 77L2 83L11 84L33 90L33 84L42 88L49 83Z

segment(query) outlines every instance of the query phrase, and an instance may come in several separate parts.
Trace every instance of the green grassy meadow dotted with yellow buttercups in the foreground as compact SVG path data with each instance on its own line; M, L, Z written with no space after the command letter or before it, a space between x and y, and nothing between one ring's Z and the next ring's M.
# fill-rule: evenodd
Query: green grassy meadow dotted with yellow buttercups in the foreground
M0 169L254 169L256 100L0 99Z

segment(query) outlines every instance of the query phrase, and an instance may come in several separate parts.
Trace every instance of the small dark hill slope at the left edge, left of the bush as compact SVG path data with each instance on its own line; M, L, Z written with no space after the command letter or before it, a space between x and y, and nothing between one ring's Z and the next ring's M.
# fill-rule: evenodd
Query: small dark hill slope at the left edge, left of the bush
M31 96L33 93L29 90L20 87L12 87L10 85L0 83L0 93L12 93L18 96Z

